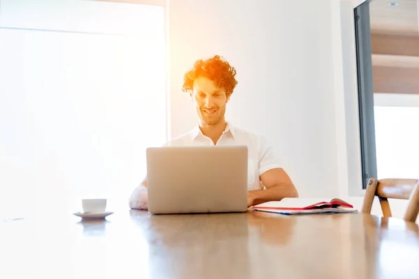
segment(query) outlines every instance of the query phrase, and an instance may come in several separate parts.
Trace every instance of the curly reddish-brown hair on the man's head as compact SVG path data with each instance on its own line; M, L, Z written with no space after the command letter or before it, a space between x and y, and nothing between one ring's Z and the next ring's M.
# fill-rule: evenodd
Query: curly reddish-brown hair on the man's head
M235 75L235 68L230 66L230 63L219 55L215 55L207 60L200 59L193 64L191 70L185 73L182 90L185 92L192 91L193 81L197 77L203 76L214 81L216 86L226 91L226 96L230 96L237 85Z

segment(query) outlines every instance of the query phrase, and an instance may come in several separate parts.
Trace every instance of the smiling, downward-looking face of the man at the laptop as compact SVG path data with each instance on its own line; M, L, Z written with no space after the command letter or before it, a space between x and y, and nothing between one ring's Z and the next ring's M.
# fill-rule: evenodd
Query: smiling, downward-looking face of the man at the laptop
M198 77L193 82L191 97L203 123L215 125L223 120L228 98L226 91L216 86L215 82L207 77Z

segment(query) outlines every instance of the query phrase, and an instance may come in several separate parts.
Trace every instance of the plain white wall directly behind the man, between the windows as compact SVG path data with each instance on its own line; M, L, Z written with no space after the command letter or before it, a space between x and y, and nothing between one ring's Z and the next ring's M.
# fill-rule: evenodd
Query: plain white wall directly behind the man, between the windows
M330 8L330 0L170 1L172 136L196 123L183 73L221 54L239 82L230 121L270 140L302 197L336 196Z

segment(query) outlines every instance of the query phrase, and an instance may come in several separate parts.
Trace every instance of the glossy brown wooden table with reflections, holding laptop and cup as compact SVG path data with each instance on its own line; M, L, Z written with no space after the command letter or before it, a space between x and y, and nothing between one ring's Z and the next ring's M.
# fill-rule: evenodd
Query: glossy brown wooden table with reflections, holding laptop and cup
M0 223L0 278L419 278L418 225L360 213Z

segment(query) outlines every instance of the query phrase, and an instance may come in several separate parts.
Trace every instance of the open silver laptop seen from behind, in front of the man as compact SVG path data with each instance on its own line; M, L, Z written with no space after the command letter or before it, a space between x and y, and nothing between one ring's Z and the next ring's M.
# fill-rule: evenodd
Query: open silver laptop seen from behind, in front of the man
M149 212L247 211L247 152L247 146L147 149Z

